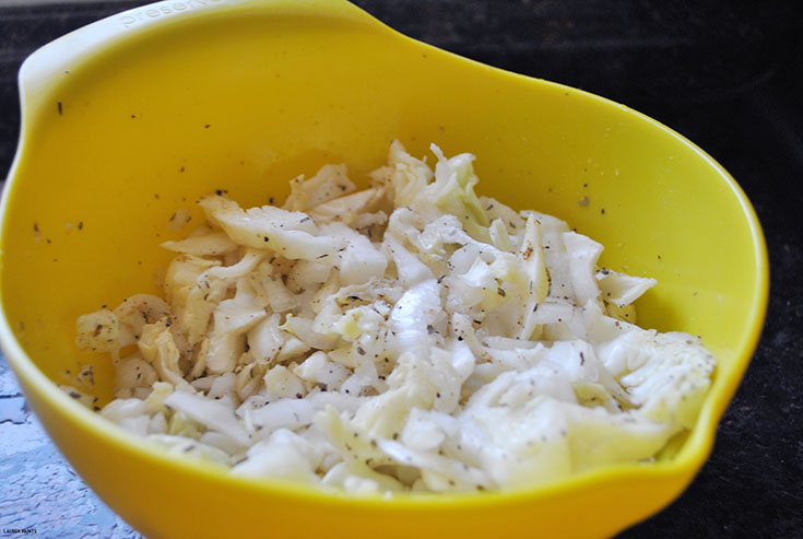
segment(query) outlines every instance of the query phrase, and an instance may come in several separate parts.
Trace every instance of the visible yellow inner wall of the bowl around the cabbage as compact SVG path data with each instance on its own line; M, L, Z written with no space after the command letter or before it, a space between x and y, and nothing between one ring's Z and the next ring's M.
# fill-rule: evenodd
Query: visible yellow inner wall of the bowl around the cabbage
M741 190L671 130L362 17L221 13L63 71L25 112L1 245L8 325L51 380L90 363L110 398L110 364L75 350L75 319L157 291L170 258L158 244L186 233L167 229L178 208L192 225L215 189L281 200L331 162L359 183L398 138L416 155L430 142L474 153L480 192L565 219L605 245L603 265L658 279L640 325L700 335L719 359L706 426L682 452L710 447L760 330L766 254Z

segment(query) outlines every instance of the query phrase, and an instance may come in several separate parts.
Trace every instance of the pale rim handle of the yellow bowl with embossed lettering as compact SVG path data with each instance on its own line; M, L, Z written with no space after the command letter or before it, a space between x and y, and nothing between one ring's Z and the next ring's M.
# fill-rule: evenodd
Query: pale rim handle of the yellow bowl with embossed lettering
M19 85L23 118L45 106L50 91L86 58L103 52L142 33L184 25L199 19L246 14L316 16L390 30L346 0L166 0L116 15L67 34L33 52L20 68ZM58 104L56 104L58 105Z

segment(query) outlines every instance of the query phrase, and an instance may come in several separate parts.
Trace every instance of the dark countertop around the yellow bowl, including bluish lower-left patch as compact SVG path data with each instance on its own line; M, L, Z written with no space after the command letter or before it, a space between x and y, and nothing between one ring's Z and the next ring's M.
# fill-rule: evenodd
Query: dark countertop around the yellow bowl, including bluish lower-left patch
M22 59L74 27L143 3L0 3L2 176L16 144ZM621 537L803 537L803 7L795 0L356 3L427 43L625 103L696 142L736 178L769 249L764 333L700 473L673 504ZM63 460L2 359L0 479L0 529L140 537Z

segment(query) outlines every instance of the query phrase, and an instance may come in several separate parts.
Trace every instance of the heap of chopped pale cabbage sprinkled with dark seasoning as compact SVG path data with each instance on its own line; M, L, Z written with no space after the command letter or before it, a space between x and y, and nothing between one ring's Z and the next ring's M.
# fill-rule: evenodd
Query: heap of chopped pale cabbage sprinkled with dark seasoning
M692 429L716 362L633 324L656 281L432 151L392 142L362 190L327 165L281 207L202 198L206 222L162 244L164 300L76 321L116 399L62 387L168 453L353 494L530 488Z

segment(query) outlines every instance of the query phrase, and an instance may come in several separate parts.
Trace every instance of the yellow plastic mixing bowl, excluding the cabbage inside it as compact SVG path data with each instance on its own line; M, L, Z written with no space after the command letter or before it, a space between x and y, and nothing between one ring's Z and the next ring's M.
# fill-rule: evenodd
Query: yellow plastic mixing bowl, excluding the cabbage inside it
M0 337L25 395L85 481L150 537L609 536L672 501L707 458L767 303L757 219L728 173L683 137L610 101L406 38L343 1L169 0L35 52L2 199ZM355 499L228 477L163 455L61 392L91 363L75 318L155 292L179 207L228 189L286 194L329 162L355 177L399 138L477 155L481 190L566 219L605 266L649 274L640 321L701 335L719 358L697 425L654 464L481 495ZM588 204L578 204L588 197ZM604 213L603 210L604 209Z

